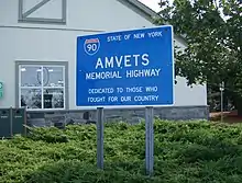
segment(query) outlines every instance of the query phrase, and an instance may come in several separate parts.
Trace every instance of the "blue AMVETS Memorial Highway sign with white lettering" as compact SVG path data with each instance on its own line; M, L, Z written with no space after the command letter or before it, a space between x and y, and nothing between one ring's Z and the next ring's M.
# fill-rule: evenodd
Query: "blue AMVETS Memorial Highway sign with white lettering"
M77 37L77 106L172 105L170 25Z

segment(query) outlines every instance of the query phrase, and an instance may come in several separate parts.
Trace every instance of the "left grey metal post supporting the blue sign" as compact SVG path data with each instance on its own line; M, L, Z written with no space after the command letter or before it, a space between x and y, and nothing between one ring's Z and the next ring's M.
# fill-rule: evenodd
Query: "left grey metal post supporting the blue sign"
M97 108L97 165L98 169L103 169L103 108Z

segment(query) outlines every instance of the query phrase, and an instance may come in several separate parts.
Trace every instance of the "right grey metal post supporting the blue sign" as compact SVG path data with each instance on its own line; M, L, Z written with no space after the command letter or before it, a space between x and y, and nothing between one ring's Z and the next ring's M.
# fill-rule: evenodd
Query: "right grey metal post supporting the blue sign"
M146 174L153 174L154 167L154 129L153 122L154 112L153 107L145 107L145 168Z

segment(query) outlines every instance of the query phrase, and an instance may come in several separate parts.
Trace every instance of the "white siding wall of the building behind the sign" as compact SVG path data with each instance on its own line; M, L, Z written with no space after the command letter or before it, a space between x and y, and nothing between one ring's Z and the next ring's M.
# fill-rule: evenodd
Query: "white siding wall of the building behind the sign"
M24 0L30 7L33 0ZM40 0L35 0L40 1ZM47 5L47 4L45 4ZM53 0L48 7L33 15L61 16L61 3ZM25 7L26 9L26 7ZM18 23L19 2L0 1L0 81L4 83L4 96L0 107L15 106L15 61L68 61L69 108L75 105L76 37L100 31L150 27L151 22L116 0L67 0L66 25ZM177 43L179 44L180 43ZM182 45L183 46L183 45ZM175 85L175 105L207 105L206 87L186 85L178 79Z

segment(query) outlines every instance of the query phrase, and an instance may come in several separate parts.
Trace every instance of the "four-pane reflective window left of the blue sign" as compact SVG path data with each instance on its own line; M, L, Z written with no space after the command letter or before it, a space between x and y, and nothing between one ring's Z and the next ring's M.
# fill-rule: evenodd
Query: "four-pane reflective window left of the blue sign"
M65 108L65 66L19 65L19 106Z

